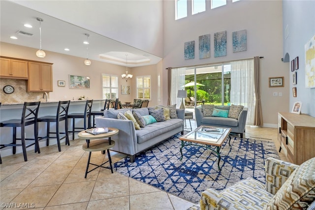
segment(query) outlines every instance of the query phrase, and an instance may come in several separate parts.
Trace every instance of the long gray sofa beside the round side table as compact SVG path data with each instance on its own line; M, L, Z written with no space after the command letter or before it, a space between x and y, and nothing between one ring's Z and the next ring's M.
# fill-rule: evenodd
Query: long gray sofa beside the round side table
M96 127L113 127L119 129L119 134L112 137L115 146L111 149L130 156L130 162L134 161L135 155L147 150L159 142L179 133L184 133L184 109L176 109L178 118L148 124L140 130L134 128L131 120L119 120L119 112L125 113L127 110L135 111L141 116L149 115L148 108L140 109L118 109L105 110L103 117L95 118Z

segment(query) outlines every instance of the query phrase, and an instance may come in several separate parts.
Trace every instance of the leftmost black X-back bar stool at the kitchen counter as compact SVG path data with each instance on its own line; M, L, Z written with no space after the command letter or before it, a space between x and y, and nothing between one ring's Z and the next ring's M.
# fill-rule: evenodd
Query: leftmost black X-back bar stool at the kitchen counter
M10 144L0 144L0 149L6 147L13 147L12 153L16 153L16 147L22 146L24 161L28 161L26 149L34 145L34 151L40 153L39 144L38 144L38 110L39 110L40 101L38 102L24 102L22 109L21 119L11 119L4 120L0 122L0 127L12 127L13 128L13 140ZM33 125L34 129L34 138L26 138L26 126ZM16 137L16 128L21 127L21 138ZM17 144L16 141L20 140L21 144ZM26 145L27 141L34 141L32 144ZM2 161L1 161L2 163Z

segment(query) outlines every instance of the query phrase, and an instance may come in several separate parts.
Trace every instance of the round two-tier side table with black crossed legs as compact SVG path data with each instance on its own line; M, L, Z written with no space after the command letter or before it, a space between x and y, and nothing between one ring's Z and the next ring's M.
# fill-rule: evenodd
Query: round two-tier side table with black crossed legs
M92 129L88 129L88 130L92 130ZM80 139L85 139L86 142L87 142L86 145L82 145L83 150L89 151L88 163L87 163L87 168L86 168L86 171L85 171L84 178L87 178L88 173L90 173L91 171L94 171L95 169L97 169L99 167L107 168L107 167L103 166L107 162L109 162L110 170L113 173L112 160L111 160L111 157L110 157L109 149L115 146L115 143L111 146L111 137L117 135L119 130L117 128L108 128L108 130L112 130L112 131L110 131L108 133L97 134L97 135L93 135L93 134L87 133L86 132L87 130L83 130L83 131L78 133L78 137ZM108 140L107 139L105 140L105 138L108 138ZM107 149L107 155L108 155L108 160L107 161L103 162L100 165L97 165L97 164L94 164L94 163L90 163L92 151L99 151L99 150L94 150L93 146L91 147L91 150L89 150L90 140L97 140L98 142L100 140L104 140L104 143L106 143L108 141L108 145L107 146L104 145L104 147L103 147L103 148ZM95 146L97 148L97 145L95 145ZM105 151L106 150L102 150L101 151L102 154L105 154ZM96 167L89 171L89 165L94 165Z

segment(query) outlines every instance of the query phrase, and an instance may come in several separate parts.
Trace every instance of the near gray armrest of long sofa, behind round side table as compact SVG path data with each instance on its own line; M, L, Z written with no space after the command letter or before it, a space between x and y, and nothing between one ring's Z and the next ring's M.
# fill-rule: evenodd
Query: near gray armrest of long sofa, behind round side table
M136 154L137 150L137 136L133 122L131 120L119 120L113 118L98 117L95 118L96 127L113 127L119 129L119 133L113 136L115 141L114 150L126 154Z

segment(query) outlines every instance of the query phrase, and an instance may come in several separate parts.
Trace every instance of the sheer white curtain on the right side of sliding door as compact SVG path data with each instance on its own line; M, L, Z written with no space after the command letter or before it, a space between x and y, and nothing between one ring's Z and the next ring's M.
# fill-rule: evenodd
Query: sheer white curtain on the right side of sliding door
M232 61L230 103L248 107L249 125L254 121L255 101L253 59Z

